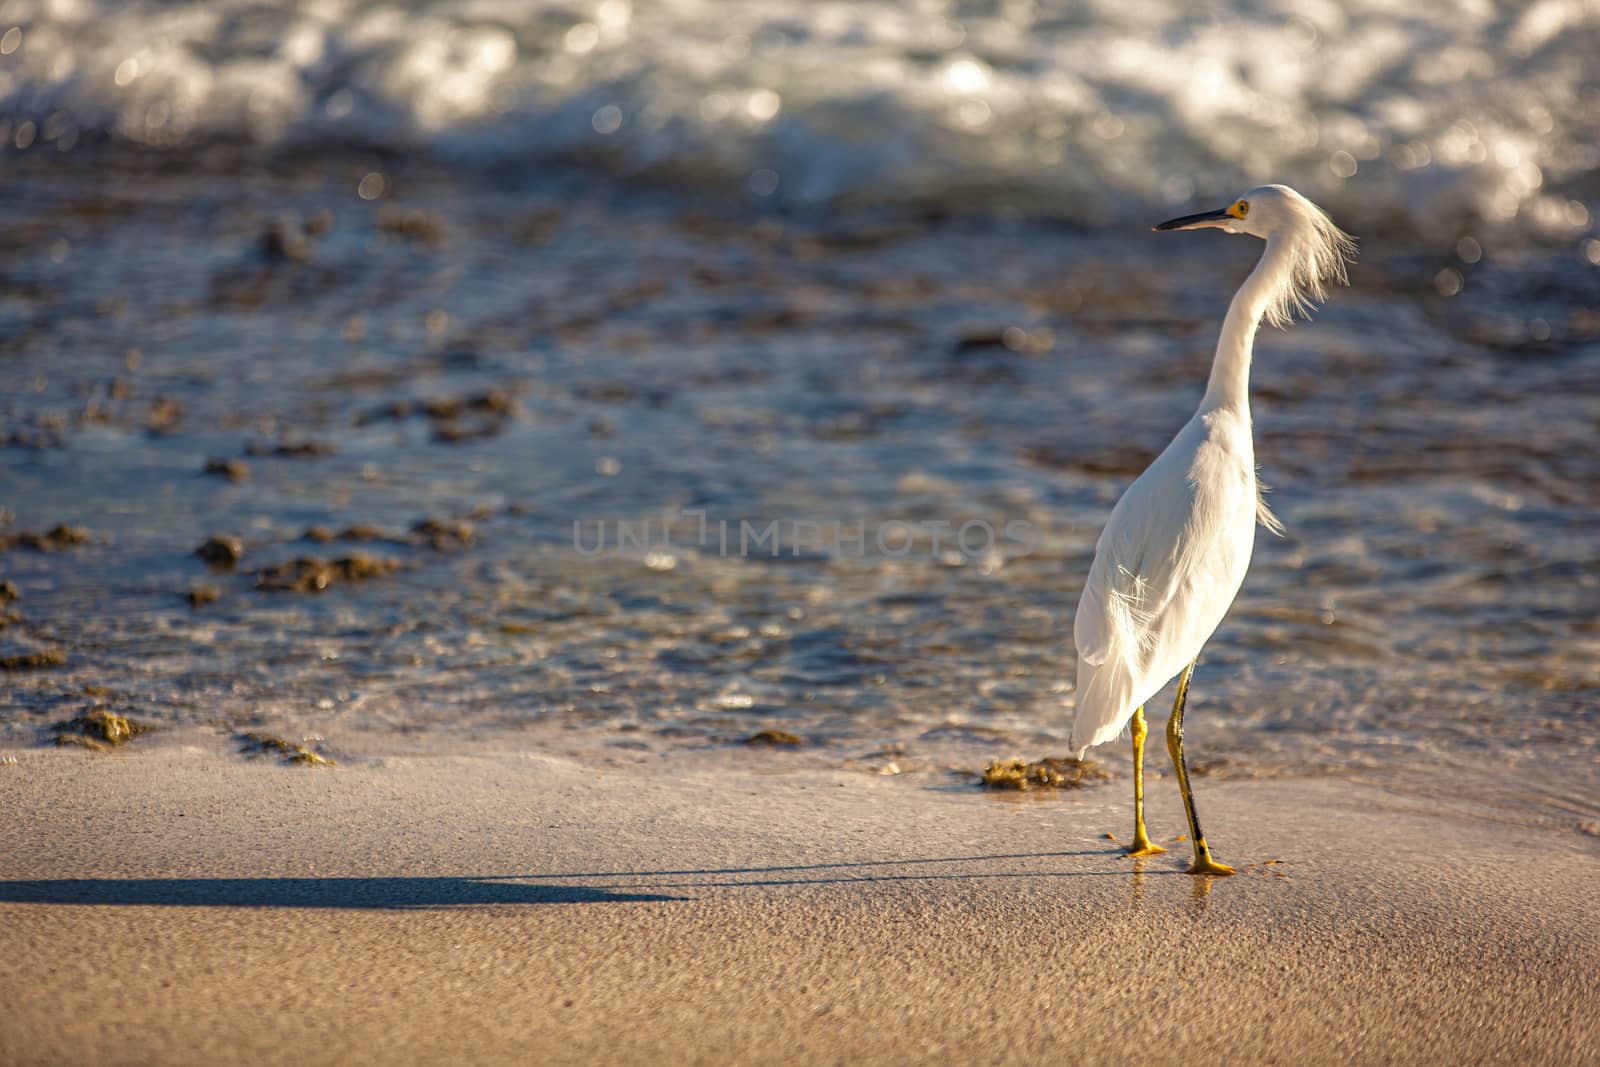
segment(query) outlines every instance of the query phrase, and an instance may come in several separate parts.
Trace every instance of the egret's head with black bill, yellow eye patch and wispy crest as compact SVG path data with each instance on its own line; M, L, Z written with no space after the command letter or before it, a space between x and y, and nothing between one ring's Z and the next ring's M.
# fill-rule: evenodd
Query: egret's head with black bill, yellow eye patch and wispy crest
M1280 248L1275 262L1282 285L1264 310L1274 326L1286 326L1296 314L1309 315L1312 304L1328 294L1328 285L1349 285L1346 264L1355 259L1355 238L1288 186L1261 186L1226 208L1168 219L1155 229L1219 229L1259 237L1269 250Z

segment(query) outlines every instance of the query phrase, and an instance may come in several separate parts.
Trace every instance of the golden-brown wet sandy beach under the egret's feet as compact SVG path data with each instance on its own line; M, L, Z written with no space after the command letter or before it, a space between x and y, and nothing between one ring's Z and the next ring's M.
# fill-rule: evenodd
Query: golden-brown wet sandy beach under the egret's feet
M1594 1062L1600 849L1347 779L787 753L0 765L0 1062ZM1267 865L1264 861L1280 862Z

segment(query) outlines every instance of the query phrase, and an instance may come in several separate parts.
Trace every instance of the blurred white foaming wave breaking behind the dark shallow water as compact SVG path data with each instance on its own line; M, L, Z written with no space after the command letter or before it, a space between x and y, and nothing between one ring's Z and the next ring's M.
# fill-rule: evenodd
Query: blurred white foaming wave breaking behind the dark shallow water
M1368 222L1571 240L1597 54L1584 0L6 0L0 134L565 160L1083 222L1283 181Z

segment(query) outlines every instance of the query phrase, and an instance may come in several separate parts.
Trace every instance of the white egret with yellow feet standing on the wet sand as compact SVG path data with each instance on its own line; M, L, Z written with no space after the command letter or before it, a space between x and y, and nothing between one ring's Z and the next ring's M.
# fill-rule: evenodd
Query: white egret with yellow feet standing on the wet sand
M1309 315L1330 282L1346 282L1355 242L1310 200L1262 186L1218 211L1162 222L1157 230L1214 227L1266 240L1266 251L1222 320L1211 381L1194 418L1117 501L1094 547L1078 614L1077 718L1072 749L1133 734L1133 856L1163 853L1144 829L1144 702L1174 675L1178 699L1166 749L1178 769L1194 841L1189 873L1230 875L1211 857L1184 766L1184 704L1202 646L1222 622L1256 539L1256 523L1280 526L1261 499L1250 429L1250 358L1262 318L1288 326Z

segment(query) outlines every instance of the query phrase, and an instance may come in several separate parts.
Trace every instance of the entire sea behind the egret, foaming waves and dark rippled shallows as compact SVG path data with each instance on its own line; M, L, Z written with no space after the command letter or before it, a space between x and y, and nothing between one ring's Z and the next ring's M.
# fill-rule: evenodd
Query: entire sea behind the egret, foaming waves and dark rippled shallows
M1059 755L1259 251L1149 224L1275 179L1362 259L1190 750L1595 833L1594 11L1192 11L0 5L0 742Z

